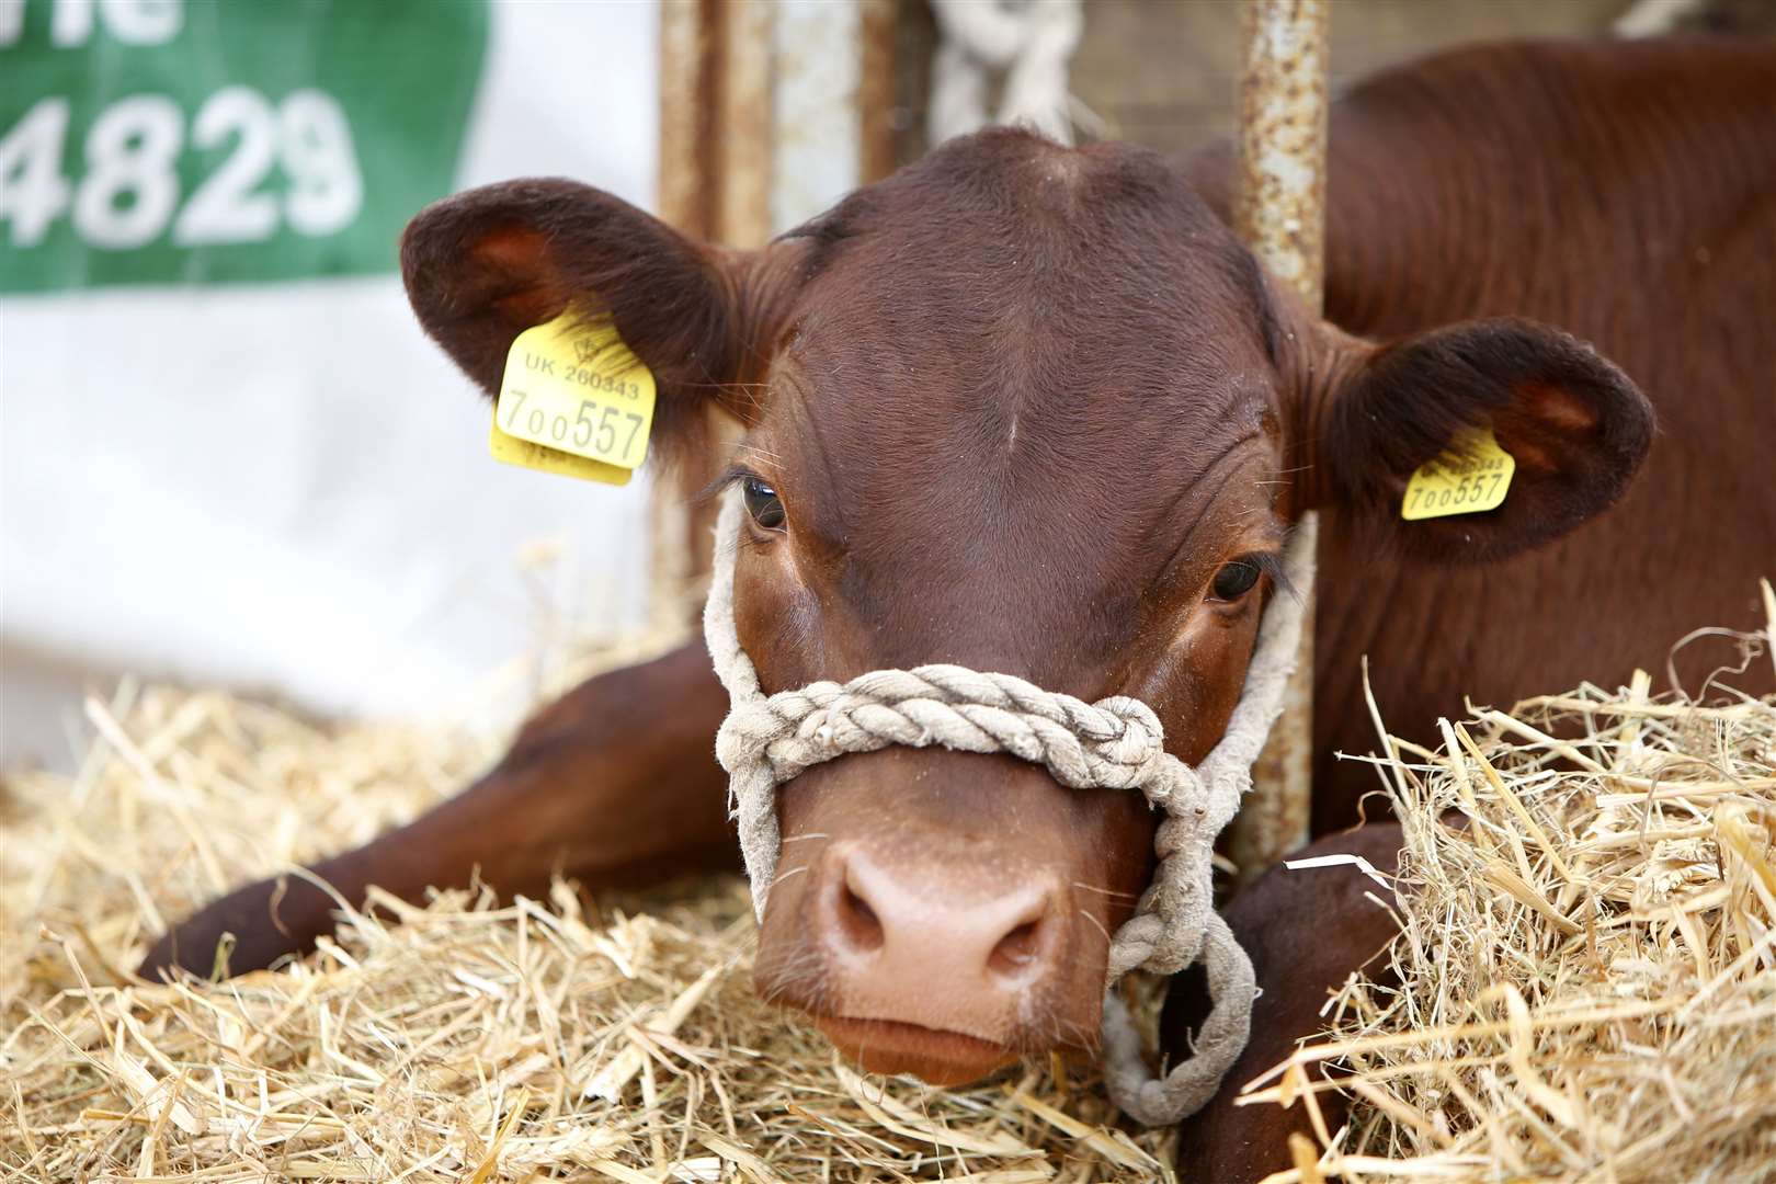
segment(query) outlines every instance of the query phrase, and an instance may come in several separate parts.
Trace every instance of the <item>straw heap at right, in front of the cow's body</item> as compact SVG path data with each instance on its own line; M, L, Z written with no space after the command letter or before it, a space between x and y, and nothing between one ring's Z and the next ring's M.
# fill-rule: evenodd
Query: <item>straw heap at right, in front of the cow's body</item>
M1767 669L1762 591L1740 641ZM1732 676L1705 705L1636 675L1389 742L1401 935L1247 1090L1357 1095L1277 1184L1776 1180L1776 696Z

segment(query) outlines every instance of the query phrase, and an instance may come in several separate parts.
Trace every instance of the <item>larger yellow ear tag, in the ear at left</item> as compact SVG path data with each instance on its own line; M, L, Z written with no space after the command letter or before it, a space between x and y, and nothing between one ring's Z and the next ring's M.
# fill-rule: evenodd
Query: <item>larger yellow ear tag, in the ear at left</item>
M508 465L627 485L652 428L654 373L609 318L570 309L511 343L487 447Z

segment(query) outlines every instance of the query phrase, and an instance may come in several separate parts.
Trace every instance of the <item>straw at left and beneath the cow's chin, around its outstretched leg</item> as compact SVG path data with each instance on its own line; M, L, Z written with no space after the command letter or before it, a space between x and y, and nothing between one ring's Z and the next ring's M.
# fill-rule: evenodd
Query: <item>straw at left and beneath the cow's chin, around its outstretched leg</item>
M172 687L85 710L78 774L12 774L0 795L0 1177L1169 1175L1176 1136L1115 1129L1085 1063L950 1093L835 1065L753 996L737 879L382 900L400 925L353 912L286 969L131 980L167 921L414 817L501 737L318 728Z

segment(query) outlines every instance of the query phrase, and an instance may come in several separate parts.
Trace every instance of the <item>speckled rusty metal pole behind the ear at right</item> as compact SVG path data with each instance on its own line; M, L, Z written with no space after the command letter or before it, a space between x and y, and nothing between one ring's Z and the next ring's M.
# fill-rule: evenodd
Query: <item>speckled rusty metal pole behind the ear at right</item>
M1234 227L1273 277L1321 309L1330 0L1245 0L1240 20L1240 183ZM1312 513L1296 527L1318 536ZM1312 808L1314 612L1302 623L1282 715L1234 817L1241 882L1307 840Z

